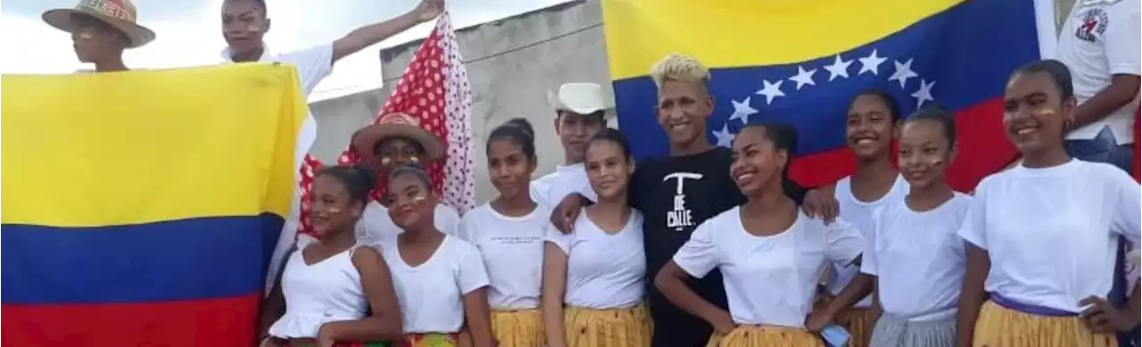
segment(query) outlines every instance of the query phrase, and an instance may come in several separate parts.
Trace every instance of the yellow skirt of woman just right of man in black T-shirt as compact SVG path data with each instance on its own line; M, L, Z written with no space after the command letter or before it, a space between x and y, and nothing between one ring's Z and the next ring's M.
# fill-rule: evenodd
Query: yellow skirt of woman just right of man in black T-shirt
M725 336L714 333L706 347L825 347L825 341L804 329L739 325Z

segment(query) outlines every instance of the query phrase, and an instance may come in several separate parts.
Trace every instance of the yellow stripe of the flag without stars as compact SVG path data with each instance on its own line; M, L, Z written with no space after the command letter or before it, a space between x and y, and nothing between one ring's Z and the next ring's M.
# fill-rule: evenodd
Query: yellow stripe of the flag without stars
M0 76L0 223L286 216L305 112L283 65Z

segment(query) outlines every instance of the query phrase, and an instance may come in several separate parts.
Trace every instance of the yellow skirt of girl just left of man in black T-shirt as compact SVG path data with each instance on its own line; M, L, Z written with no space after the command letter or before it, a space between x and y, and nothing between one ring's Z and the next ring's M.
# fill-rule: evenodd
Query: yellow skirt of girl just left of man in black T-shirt
M568 347L649 347L651 321L646 307L563 309Z

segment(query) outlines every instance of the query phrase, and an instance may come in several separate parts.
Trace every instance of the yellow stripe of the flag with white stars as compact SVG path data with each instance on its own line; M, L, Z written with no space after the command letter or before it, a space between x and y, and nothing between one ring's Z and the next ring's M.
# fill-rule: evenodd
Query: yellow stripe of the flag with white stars
M895 33L963 0L603 0L614 80L670 53L709 67L789 64Z

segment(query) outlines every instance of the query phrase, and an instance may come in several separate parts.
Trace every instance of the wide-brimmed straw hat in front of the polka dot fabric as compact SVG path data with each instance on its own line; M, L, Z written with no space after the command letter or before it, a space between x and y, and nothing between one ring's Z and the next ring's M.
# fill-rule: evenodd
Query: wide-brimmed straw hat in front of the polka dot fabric
M403 137L420 144L425 150L424 161L433 161L444 158L444 143L435 135L420 128L420 121L404 113L389 113L377 120L369 127L361 128L353 134L353 148L357 153L373 155L372 148L377 143Z

